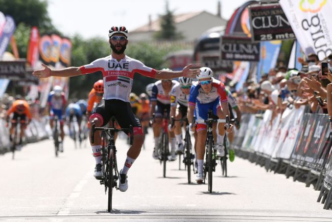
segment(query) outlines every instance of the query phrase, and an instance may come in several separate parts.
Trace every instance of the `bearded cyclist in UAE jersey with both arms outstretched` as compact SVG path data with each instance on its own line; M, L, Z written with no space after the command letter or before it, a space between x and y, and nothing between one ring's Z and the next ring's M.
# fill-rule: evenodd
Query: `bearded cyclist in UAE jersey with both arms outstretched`
M135 159L139 156L143 145L143 131L138 118L132 113L129 103L134 74L139 73L156 79L172 79L180 76L193 77L198 75L200 70L190 70L191 65L187 65L179 72L158 71L149 68L136 59L130 58L125 54L128 44L128 30L124 26L113 26L109 30L108 37L112 49L111 55L97 59L81 67L69 67L61 70L51 70L49 66L43 64L44 69L34 71L33 75L39 78L47 78L50 76L71 77L97 71L102 72L104 79L104 97L99 106L92 111L89 120L90 127L93 124L96 127L105 125L108 123L111 116L115 116L122 128L129 128L129 125L133 126L134 141L127 152L124 167L120 171L118 185L119 190L124 192L128 189L127 172ZM94 176L103 176L100 135L94 134L94 143L91 143L90 138L90 144L96 159Z

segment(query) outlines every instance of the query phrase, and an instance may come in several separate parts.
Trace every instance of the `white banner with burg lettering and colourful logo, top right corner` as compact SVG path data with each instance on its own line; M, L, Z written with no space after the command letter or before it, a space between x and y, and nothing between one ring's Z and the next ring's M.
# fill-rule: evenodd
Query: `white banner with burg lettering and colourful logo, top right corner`
M306 55L323 60L332 53L332 1L279 0L283 12Z

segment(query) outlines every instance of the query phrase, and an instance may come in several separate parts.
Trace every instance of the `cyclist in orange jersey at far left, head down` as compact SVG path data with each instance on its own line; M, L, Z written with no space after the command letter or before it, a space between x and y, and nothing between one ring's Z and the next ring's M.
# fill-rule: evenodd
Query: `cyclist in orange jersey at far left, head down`
M13 102L12 106L7 111L7 124L8 127L9 118L10 115L13 114L13 117L11 119L11 127L9 129L9 139L12 141L14 134L15 127L17 125L17 119L20 119L21 129L20 129L20 135L19 135L19 144L22 144L22 137L25 135L25 129L27 128L27 125L31 121L31 112L30 112L30 106L27 101L25 100L16 100Z

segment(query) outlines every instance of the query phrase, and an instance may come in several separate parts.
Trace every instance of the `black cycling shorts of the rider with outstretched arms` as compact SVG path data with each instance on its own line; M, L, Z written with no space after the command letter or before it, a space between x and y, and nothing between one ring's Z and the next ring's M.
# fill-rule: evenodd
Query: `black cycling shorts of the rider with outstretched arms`
M132 125L134 135L143 135L139 119L132 112L129 102L118 99L102 99L99 105L92 110L90 119L97 117L102 121L102 125L105 126L112 116L115 117L121 128L129 128L129 125Z

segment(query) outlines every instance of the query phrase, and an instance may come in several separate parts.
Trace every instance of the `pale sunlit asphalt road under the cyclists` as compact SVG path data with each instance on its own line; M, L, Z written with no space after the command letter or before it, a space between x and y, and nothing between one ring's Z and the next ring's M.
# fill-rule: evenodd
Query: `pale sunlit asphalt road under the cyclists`
M45 140L23 147L15 160L11 153L0 156L0 220L332 221L332 211L316 202L319 191L240 158L228 164L228 177L217 166L211 194L207 184L188 185L178 161L168 163L163 178L152 142L148 136L128 172L128 191L114 192L111 213L104 187L93 177L89 145L75 149L66 138L56 158L52 140ZM128 145L125 139L116 145L121 169Z

